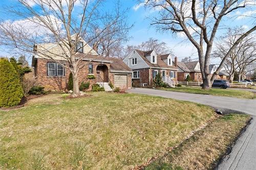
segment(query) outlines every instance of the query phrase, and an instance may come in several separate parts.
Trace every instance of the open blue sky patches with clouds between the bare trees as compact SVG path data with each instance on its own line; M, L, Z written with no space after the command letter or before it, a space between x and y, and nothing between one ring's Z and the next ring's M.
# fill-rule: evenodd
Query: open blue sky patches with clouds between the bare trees
M112 0L107 0L108 2L105 6L105 9L111 9ZM110 3L109 3L110 2ZM185 37L182 36L174 36L172 33L167 32L158 32L155 27L150 25L151 21L146 19L149 15L156 15L157 11L145 9L143 6L136 8L138 4L137 1L133 0L123 0L120 1L123 9L129 8L129 12L127 13L127 20L130 24L134 24L134 27L130 31L130 36L132 39L128 42L131 45L137 45L142 41L146 41L149 38L156 38L160 41L164 41L167 45L173 50L174 54L181 60L184 57L191 56L191 58L197 57L197 51L195 47L189 42L184 41ZM15 4L15 0L2 0L0 1L0 17L5 20L16 20L20 18L13 18L11 15L6 15L3 12L3 7L9 4ZM241 12L233 12L228 19L223 20L221 22L221 26L223 27L233 27L233 26L243 26L245 29L250 28L253 25L251 19L246 19L244 17L240 18L232 18L235 14L245 14L250 13L250 15L256 16L255 7L250 7L246 10L241 10ZM255 24L255 22L254 22ZM221 35L223 32L219 31L218 35ZM1 50L1 49L0 49ZM0 55L7 55L6 52L0 52Z

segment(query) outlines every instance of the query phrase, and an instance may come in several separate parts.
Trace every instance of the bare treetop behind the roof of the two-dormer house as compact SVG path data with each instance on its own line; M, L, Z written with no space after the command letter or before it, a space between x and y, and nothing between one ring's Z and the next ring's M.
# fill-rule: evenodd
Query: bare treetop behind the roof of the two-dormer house
M147 41L141 42L139 45L127 45L123 56L129 55L134 49L142 51L155 50L157 54L173 53L165 42L150 38Z

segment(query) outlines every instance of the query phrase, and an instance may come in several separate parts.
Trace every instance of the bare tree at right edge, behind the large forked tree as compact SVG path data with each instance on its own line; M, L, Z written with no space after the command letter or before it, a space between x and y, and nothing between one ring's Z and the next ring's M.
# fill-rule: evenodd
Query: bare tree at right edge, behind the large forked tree
M229 28L227 33L221 36L220 40L216 42L216 50L212 56L223 60L227 51L233 46L243 32L243 28ZM256 42L253 39L253 36L255 35L252 34L244 38L227 57L224 63L224 68L229 74L229 81L233 81L236 70L239 73L240 81L248 65L256 61Z

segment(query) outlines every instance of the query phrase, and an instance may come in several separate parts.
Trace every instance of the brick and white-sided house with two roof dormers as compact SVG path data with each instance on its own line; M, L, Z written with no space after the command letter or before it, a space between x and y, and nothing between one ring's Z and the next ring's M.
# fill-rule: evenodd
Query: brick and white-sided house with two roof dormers
M177 58L173 62L171 54L158 55L155 50L133 50L123 59L133 70L133 86L152 86L157 74L161 74L163 82L174 86L177 78Z

